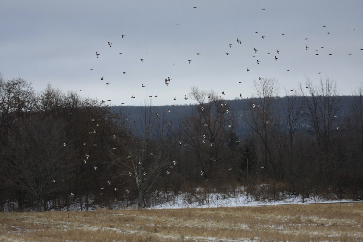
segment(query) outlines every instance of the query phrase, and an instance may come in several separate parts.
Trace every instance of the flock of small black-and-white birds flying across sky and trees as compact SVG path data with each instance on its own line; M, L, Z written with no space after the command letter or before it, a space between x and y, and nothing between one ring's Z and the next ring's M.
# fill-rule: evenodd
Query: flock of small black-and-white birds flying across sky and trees
M196 8L196 7L193 7L193 8ZM265 9L262 9L262 11L264 11ZM179 26L180 24L176 24L176 26ZM322 28L326 28L326 26L322 26ZM355 28L353 28L352 30L356 30ZM258 33L258 32L255 32L256 34ZM325 32L326 34L328 34L328 35L330 35L330 34L332 34L331 32ZM282 33L281 34L282 36L285 36L285 33ZM124 34L122 34L122 39L124 39L126 36L124 35ZM267 39L267 38L265 38L266 36L265 35L262 35L261 36L261 38L262 39ZM305 38L305 40L308 40L309 38ZM237 46L243 46L243 41L241 40L241 38L237 38ZM108 44L108 46L110 47L110 48L112 48L112 46L113 46L113 43L112 42L107 42L107 44ZM239 45L238 45L239 44ZM228 46L228 47L227 47ZM227 44L226 43L226 47L227 48L230 48L231 50L233 49L233 44ZM303 46L302 46L302 48L303 48ZM319 55L320 53L318 52L319 51L319 49L323 49L324 47L319 47L318 49L314 49L314 55L315 56L317 56L317 55ZM310 48L310 46L309 46L309 44L308 44L308 42L305 44L305 50L306 51L309 51L311 48ZM360 49L360 50L363 50L363 49ZM251 52L252 52L252 50L251 50ZM257 56L259 56L259 57L261 57L261 54L260 54L260 51L258 50L258 46L256 46L256 48L253 48L253 52L254 52L254 56L252 56L252 58L255 58L256 57L256 59L257 59ZM281 52L281 54L280 54L280 52ZM276 53L276 54L272 54L272 53ZM119 55L123 55L123 53L118 53ZM199 55L201 55L201 53L195 53L197 56L199 56ZM229 53L229 52L226 52L225 53L227 56L229 56L231 53ZM283 54L284 54L284 50L279 50L279 49L276 49L276 51L274 51L274 52L267 52L267 54L268 55L270 55L270 54L272 54L271 55L271 60L273 61L279 61L280 60L280 58L284 58L284 56L283 56ZM146 53L146 55L149 55L149 53ZM333 54L332 53L329 53L328 54L329 56L332 56ZM348 54L348 56L351 56L351 54ZM102 58L102 53L99 53L98 51L96 51L96 58L97 59L99 59L99 58ZM257 59L256 60L256 65L262 65L262 63L261 63L261 61L260 61L261 59ZM144 62L144 58L140 58L140 62ZM185 62L188 62L189 64L191 64L191 65L193 65L193 63L192 63L192 60L191 59L188 59L188 60L185 60ZM171 63L172 65L176 65L176 63ZM252 69L252 68L251 68ZM248 67L247 69L246 69L246 71L247 72L249 72L249 71L251 71L251 69L250 69L250 67ZM90 71L93 71L94 69L89 69ZM287 69L287 71L291 71L291 69ZM123 71L122 72L123 74L127 74L127 72L126 71ZM321 74L321 72L319 72L318 74ZM262 78L261 77L258 77L258 79L260 80L260 81L262 81ZM106 82L106 80L103 78L103 77L101 77L100 78L100 80L101 81L105 81L105 85L107 85L107 86L109 86L109 85L111 85L111 83L110 82ZM170 85L170 83L171 83L171 80L172 80L172 78L170 78L170 77L166 77L165 78L165 80L163 80L163 82L164 82L164 84L166 85L166 86L169 86ZM239 83L242 83L242 81L239 81ZM140 88L144 88L144 87L146 87L146 85L144 85L144 83L140 83ZM309 88L309 87L307 87L307 88ZM80 91L82 91L82 89L80 89ZM291 91L293 91L293 90L291 90ZM218 95L219 97L223 97L222 95L226 95L226 92L225 91L221 91L221 92L218 92L218 93L220 93L220 95ZM136 98L136 96L134 95L134 94L130 94L130 96L129 96L130 98ZM148 96L149 98L156 98L156 97L158 97L158 95L151 95L151 96ZM242 97L244 97L244 95L242 95L242 93L240 93L240 95L239 95L239 97L240 98L242 98ZM188 97L187 97L187 95L184 95L184 99L185 100L187 100L188 99ZM173 98L173 101L176 101L177 100L177 97L174 97ZM111 102L111 100L109 100L109 99L107 99L106 100L107 102ZM105 102L106 102L105 100L102 100L102 104L105 104ZM126 102L122 102L122 104L126 104ZM223 107L223 104L221 104L222 105L222 107ZM224 105L227 105L227 103L224 103ZM175 105L172 105L172 107L174 107ZM253 108L258 108L259 107L259 105L258 104L253 104ZM204 110L204 107L202 106L201 107L201 109L202 109L202 111ZM170 108L167 108L167 110L166 110L166 112L167 113L170 113L171 112L171 110L170 110ZM226 109L226 113L228 114L229 113L229 110L228 109ZM159 114L158 113L156 113L155 114L156 115L156 117L159 117ZM128 118L126 118L126 120L128 120ZM92 121L94 121L94 120L92 120ZM135 122L135 120L132 120L133 122ZM170 126L171 125L171 123L168 123L168 126ZM208 125L208 124L205 124L206 126ZM232 125L231 124L228 124L228 127L229 128L231 128L232 127ZM94 130L94 131L90 131L89 132L89 134L95 134L96 133L96 131ZM116 138L116 136L114 135L114 138ZM203 135L203 143L207 143L207 141L205 141L205 139L208 139L205 135ZM182 144L182 140L179 140L178 141L179 142L179 145L181 145ZM65 143L64 143L64 145L66 145ZM84 145L85 145L85 143L84 143ZM187 144L184 144L184 145L187 145ZM212 147L213 146L213 144L212 143L210 143L210 146ZM113 149L116 149L116 148L113 148ZM127 158L130 158L131 156L129 156L129 157L127 157ZM85 154L85 159L83 160L83 163L84 164L86 164L87 163L87 161L88 161L88 159L89 159L89 155L87 155L87 154ZM211 160L213 160L213 158L211 158ZM173 169L173 167L175 166L177 164L177 162L174 160L174 161L172 161L172 163L170 164L170 170L168 170L168 171L166 171L166 174L167 175L170 175L171 174L171 169ZM140 164L139 164L140 165ZM264 167L261 167L261 168L264 168ZM94 169L94 171L97 171L97 167L96 166L94 166L93 167L93 169ZM132 172L128 172L127 173L127 175L129 175L129 176L135 176L136 177L136 174L134 175ZM143 173L143 175L146 175L146 172L144 172ZM200 175L201 176L203 176L204 175L204 172L203 171L200 171ZM138 182L141 182L141 180L140 179L137 179L136 178L136 180L138 181ZM209 181L209 179L207 179L207 182ZM55 180L53 180L53 182L55 182ZM108 185L111 185L111 182L110 181L107 181L107 184ZM104 187L101 187L101 190L103 190L103 189L105 189ZM117 191L118 190L118 188L117 187L114 187L114 191ZM126 189L126 192L127 193L129 193L129 190L127 190ZM72 193L72 195L73 195L73 193ZM115 199L115 200L117 200L117 199Z

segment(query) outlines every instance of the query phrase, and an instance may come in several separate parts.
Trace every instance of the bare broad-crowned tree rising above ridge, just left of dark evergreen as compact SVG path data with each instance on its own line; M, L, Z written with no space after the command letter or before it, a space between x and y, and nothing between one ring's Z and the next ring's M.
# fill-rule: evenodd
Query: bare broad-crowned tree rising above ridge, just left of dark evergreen
M235 148L235 145L228 147L236 125L233 110L213 91L207 93L192 87L189 97L197 101L197 105L181 123L184 134L181 140L186 149L195 153L202 176L215 179L220 165L231 158L229 148Z

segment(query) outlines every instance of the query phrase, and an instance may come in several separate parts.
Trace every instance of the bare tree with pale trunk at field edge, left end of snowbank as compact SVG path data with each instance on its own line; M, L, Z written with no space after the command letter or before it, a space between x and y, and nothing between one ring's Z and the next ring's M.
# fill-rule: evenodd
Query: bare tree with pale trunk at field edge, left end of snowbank
M155 108L145 102L140 111L140 118L132 122L136 123L136 127L131 126L126 132L121 131L121 137L115 136L117 149L110 149L110 154L113 164L121 169L119 176L134 179L138 208L142 209L146 205L145 195L153 191L160 172L170 162L170 142L163 137L155 138L158 133L156 129L160 128Z

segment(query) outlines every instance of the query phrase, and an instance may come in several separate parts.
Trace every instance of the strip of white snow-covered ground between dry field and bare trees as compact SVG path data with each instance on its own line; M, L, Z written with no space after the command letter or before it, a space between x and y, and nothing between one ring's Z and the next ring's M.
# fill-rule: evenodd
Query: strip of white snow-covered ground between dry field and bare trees
M265 196L266 197L266 196ZM172 192L152 193L146 209L181 209L181 208L216 208L216 207L237 207L237 206L267 206L267 205L287 205L287 204L314 204L314 203L332 203L332 202L362 202L362 200L354 201L348 199L338 199L331 195L331 199L323 198L317 195L310 195L302 202L302 197L295 194L277 193L277 199L251 197L250 194L243 192L242 188L236 188L234 192L229 193L206 193L201 189L196 189L193 193L182 192L173 194ZM70 197L71 205L69 210L81 211L78 199ZM90 203L93 200L90 198ZM83 202L83 211L86 210L85 202ZM52 207L52 204L49 204ZM92 204L89 210L103 209L137 209L137 201L133 204L127 204L126 201L114 201L112 204ZM16 202L5 203L5 212L16 210ZM27 208L26 211L34 211L35 207ZM56 208L52 210L67 210L66 207Z

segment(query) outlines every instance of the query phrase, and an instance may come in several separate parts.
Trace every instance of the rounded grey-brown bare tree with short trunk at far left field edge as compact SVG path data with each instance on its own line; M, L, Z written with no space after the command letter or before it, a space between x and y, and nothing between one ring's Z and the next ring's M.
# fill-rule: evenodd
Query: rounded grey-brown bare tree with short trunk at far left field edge
M45 196L65 189L73 171L74 150L64 129L63 120L31 116L9 133L3 149L5 182L33 194L38 212Z

